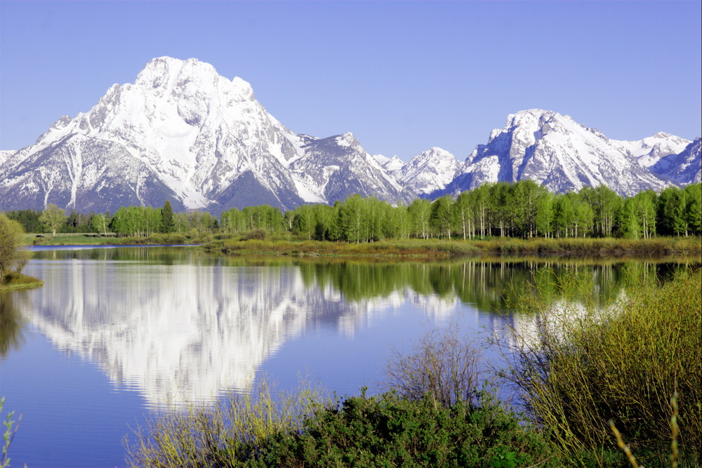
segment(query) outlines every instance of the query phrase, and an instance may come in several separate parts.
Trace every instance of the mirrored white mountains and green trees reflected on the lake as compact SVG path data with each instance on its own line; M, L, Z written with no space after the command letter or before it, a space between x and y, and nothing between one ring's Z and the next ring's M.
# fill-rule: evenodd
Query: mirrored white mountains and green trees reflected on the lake
M571 297L607 303L623 288L657 281L674 268L656 262L387 264L223 259L168 248L48 250L28 267L44 288L3 297L3 317L15 319L3 319L0 345L17 342L18 317L27 316L56 347L97 363L114 385L138 390L149 406L159 407L244 389L286 341L320 327L352 337L406 304L435 319L451 316L461 302L489 315L507 312L521 295L556 301L568 288ZM495 319L493 326L505 323Z

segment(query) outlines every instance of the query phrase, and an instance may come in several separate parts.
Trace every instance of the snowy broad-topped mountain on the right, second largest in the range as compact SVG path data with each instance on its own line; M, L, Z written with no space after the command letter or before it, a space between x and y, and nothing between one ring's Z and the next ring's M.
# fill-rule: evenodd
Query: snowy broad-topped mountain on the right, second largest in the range
M666 186L625 152L620 142L576 123L570 116L542 109L510 114L505 127L490 134L463 163L446 187L457 194L484 182L531 179L553 192L607 185L633 195Z

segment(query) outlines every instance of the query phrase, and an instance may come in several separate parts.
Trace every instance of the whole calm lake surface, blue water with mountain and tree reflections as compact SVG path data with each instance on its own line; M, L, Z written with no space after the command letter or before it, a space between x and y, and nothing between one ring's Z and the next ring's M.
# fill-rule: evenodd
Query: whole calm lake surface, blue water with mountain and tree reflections
M678 262L219 258L188 247L42 248L35 290L0 293L0 396L22 413L12 466L123 466L145 415L211 404L270 375L378 389L385 357L437 325L485 342L555 285L607 306ZM495 350L486 359L497 362ZM15 415L16 416L16 415Z

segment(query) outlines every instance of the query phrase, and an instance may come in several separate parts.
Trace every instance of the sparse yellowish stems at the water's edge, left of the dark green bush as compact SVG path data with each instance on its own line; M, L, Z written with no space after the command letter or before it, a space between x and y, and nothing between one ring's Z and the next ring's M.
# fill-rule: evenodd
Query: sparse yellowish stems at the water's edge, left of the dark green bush
M255 462L267 440L300 429L305 418L331 402L310 380L283 391L262 377L248 392L213 406L190 405L153 415L124 446L131 467L232 467Z

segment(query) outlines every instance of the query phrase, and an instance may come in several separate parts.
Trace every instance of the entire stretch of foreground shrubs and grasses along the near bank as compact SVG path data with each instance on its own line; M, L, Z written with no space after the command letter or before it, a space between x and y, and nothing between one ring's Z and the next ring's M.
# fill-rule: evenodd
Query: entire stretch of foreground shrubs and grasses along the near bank
M645 466L698 466L701 284L700 269L689 269L662 285L630 288L607 308L583 300L573 314L554 309L548 294L536 302L522 295L518 304L536 333L525 340L524 329L515 327L508 336L508 366L495 377L505 381L487 383L475 345L446 328L392 355L382 393L362 389L329 399L304 387L279 399L264 385L263 392L233 394L223 406L154 416L126 443L129 461L152 467L625 466L630 458L618 447L611 420ZM556 326L549 320L558 320ZM492 385L505 382L523 413L494 396ZM265 429L254 434L256 427Z

